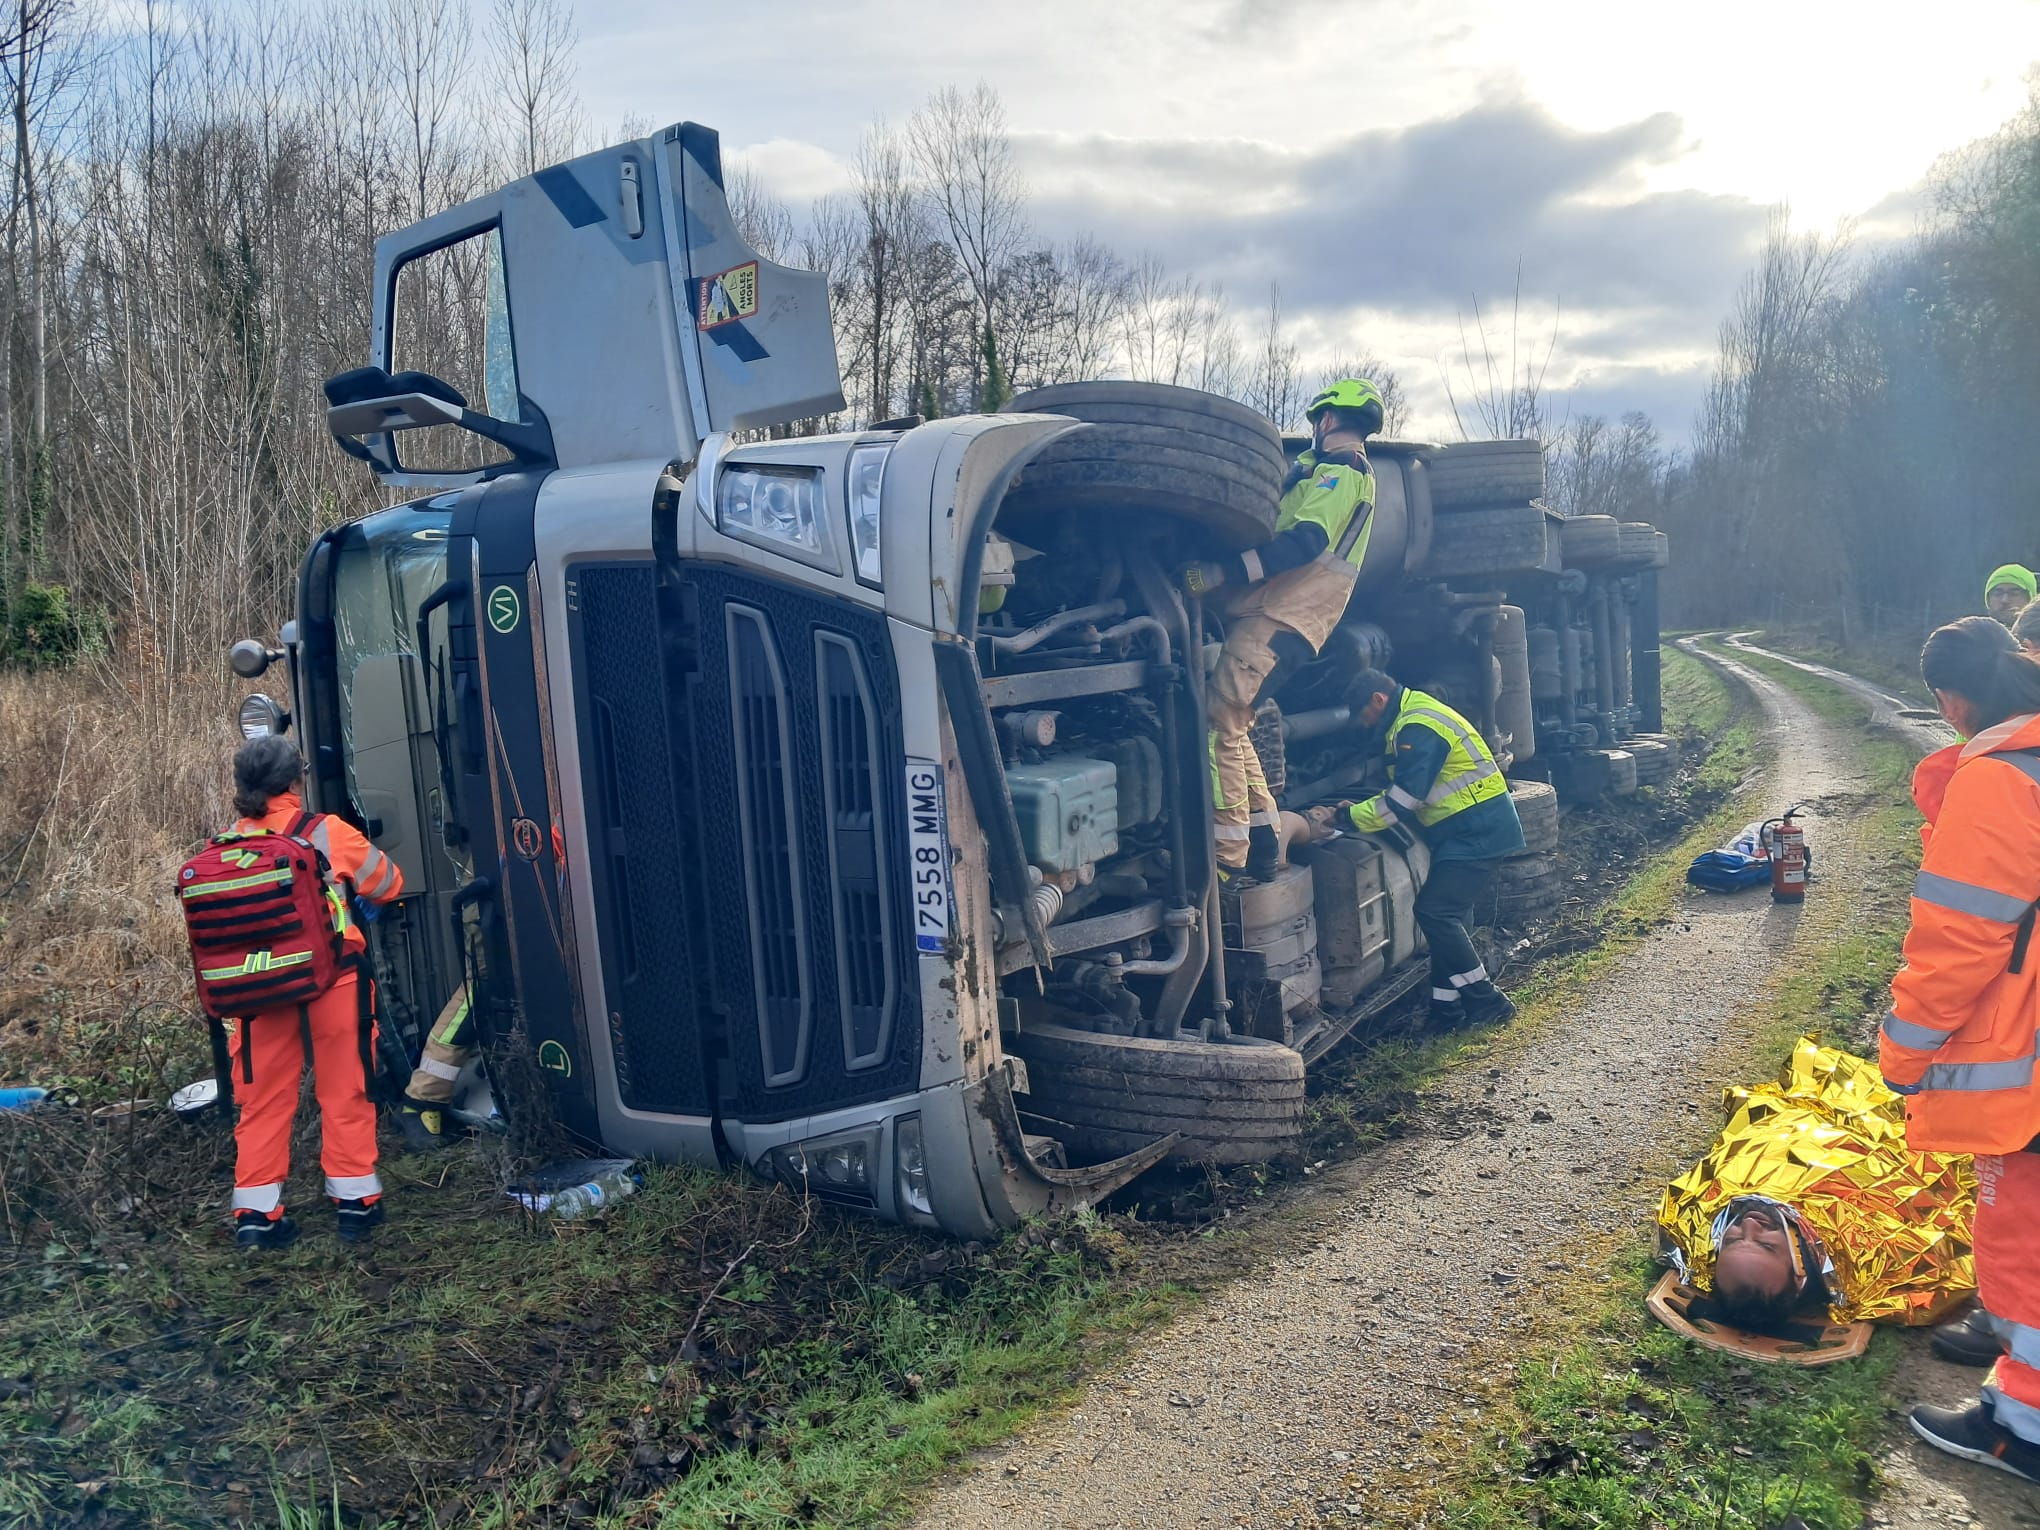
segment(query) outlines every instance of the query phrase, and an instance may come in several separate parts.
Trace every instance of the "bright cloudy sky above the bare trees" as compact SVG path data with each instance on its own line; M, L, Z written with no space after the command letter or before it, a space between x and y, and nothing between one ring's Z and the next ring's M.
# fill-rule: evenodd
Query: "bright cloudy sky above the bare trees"
M696 118L796 210L977 80L1044 237L1281 286L1308 361L1371 349L1455 435L1461 318L1557 326L1561 410L1683 437L1765 218L1903 237L1934 159L2020 110L2040 0L583 0L600 122ZM1557 320L1554 320L1557 312Z

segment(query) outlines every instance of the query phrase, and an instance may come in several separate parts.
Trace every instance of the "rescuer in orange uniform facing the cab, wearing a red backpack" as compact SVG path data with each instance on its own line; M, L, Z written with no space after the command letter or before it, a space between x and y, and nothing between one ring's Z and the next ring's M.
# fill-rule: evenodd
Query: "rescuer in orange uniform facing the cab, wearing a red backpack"
M298 747L279 734L251 738L235 755L237 834L286 832L304 812L298 783L304 765ZM396 861L377 851L353 824L330 814L304 830L326 857L333 883L343 894L388 904L404 891ZM345 916L341 938L347 957L367 940ZM320 1163L333 1197L341 1238L359 1242L381 1224L381 1179L375 1177L375 1102L369 1077L375 1055L369 979L349 961L339 981L304 1006L253 1016L228 1040L235 1067L235 1236L245 1248L282 1248L296 1240L298 1224L284 1216L284 1179L290 1177L290 1132L304 1079L304 1042L312 1044L312 1083L318 1093ZM247 1044L249 1055L241 1049Z

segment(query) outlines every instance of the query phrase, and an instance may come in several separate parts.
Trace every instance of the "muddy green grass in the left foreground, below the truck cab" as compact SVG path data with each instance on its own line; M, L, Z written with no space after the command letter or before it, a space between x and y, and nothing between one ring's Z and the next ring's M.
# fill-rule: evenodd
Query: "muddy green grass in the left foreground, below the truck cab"
M655 1167L547 1226L479 1155L390 1171L359 1259L320 1208L257 1265L210 1226L16 1248L0 1522L873 1524L1183 1299L1100 1218L955 1246Z

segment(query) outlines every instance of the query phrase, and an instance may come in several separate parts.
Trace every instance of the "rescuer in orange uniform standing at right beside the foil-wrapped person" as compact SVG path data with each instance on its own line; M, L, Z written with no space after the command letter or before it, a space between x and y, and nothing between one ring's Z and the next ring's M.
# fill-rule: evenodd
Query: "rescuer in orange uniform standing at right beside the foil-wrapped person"
M1967 738L1914 883L1879 1038L1920 1153L1977 1155L1977 1295L2003 1348L1969 1408L1916 1408L1950 1455L2040 1483L2040 661L1987 616L1938 628L1920 669Z

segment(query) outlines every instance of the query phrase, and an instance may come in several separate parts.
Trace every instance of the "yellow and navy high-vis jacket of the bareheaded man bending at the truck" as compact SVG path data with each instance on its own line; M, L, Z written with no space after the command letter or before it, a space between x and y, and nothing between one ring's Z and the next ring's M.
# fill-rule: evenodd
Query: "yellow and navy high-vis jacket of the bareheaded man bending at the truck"
M1353 804L1363 834L1410 824L1440 861L1489 861L1524 847L1508 777L1473 724L1444 702L1404 685L1385 753L1389 789Z

